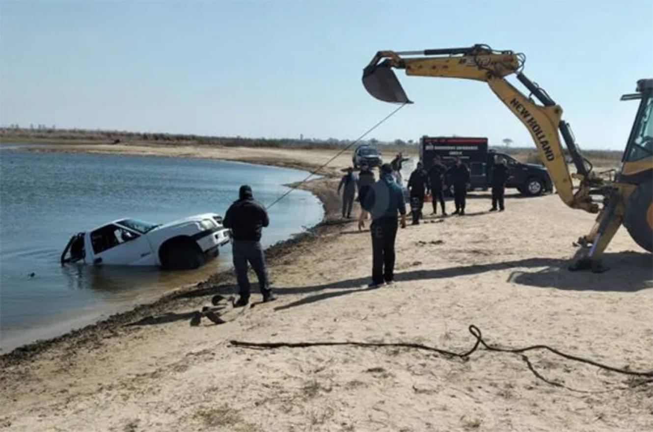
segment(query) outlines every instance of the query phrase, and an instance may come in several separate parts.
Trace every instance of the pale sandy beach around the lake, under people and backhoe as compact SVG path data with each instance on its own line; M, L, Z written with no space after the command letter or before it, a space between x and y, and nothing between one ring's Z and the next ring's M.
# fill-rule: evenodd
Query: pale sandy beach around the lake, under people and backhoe
M128 145L48 146L208 157L311 170L327 150ZM384 155L385 159L389 155ZM545 352L479 349L467 360L413 348L272 350L230 341L419 343L464 352L478 326L501 347L544 344L653 371L651 255L624 228L607 273L570 273L572 242L594 215L558 196L468 197L466 217L398 232L397 283L369 289L368 231L338 219L344 153L302 187L324 224L268 251L279 300L229 305L235 277L215 275L152 305L0 357L0 429L9 431L650 431L653 380ZM453 203L447 203L449 208ZM426 204L429 208L430 204ZM358 210L357 210L358 211ZM428 211L427 213L430 213ZM223 300L213 305L220 295ZM193 313L209 307L223 324ZM543 379L544 378L544 379ZM546 381L557 383L558 386Z

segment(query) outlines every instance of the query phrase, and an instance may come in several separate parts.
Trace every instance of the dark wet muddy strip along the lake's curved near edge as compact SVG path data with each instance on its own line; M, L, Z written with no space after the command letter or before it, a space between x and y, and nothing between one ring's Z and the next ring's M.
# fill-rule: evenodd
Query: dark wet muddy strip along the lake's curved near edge
M40 149L25 149L25 151L39 150ZM305 164L298 161L261 161L257 158L248 157L240 158L237 160L224 160L231 162L245 162L259 165L278 166L280 168L294 168L311 173L319 169L319 166ZM334 225L338 224L337 217L339 214L338 209L340 207L340 198L336 193L338 178L334 174L333 170L329 172L327 168L325 171L326 172L321 171L315 174L315 176L321 177L310 179L306 183L298 182L287 185L288 187L295 187L296 189L302 189L314 194L322 203L324 216L320 223L308 228L308 230L305 230L304 232L296 234L289 239L279 241L274 245L267 247L265 249L265 254L268 267L272 268L276 262L279 262L279 260L289 255L293 249L301 243L309 243L315 241L315 238L323 236L328 232L332 232ZM211 263L208 263L208 265L211 265ZM211 286L233 283L234 280L234 274L231 269L217 271L208 277L208 279L205 281L176 288L167 294L163 294L163 296L155 301L135 305L128 311L115 313L108 316L107 318L94 322L93 324L88 324L82 328L69 330L62 335L50 339L38 339L37 341L27 343L21 347L16 347L5 354L0 354L0 367L31 362L39 354L42 354L51 348L57 347L58 345L63 345L64 343L70 343L78 348L81 348L87 344L95 345L99 343L98 339L117 337L120 330L125 328L125 326L131 322L135 322L136 320L146 316L161 313L165 309L174 309L174 307L180 303L180 299L183 298L183 294L187 294L195 290L210 288Z

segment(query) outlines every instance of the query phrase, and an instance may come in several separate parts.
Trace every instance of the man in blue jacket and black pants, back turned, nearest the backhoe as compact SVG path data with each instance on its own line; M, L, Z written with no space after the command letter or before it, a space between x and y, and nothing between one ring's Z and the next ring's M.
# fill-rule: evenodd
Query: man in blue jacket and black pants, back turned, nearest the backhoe
M365 226L367 212L372 215L372 283L377 288L384 282L394 282L394 240L397 235L397 213L401 215L401 226L406 227L406 203L401 187L392 176L392 166L381 166L381 178L374 183L361 202L363 211L358 219L358 230Z

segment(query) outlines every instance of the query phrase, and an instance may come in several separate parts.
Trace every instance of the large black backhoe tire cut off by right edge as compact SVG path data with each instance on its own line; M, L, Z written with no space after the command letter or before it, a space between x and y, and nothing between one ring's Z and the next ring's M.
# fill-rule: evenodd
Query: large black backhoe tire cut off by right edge
M653 181L641 183L628 198L624 226L635 243L653 252Z

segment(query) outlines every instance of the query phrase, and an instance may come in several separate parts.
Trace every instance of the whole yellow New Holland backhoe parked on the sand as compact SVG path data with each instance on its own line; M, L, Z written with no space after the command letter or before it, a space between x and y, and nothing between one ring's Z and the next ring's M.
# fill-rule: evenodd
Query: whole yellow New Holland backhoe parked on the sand
M647 251L653 249L653 79L639 80L637 93L622 100L640 100L639 110L614 179L604 179L581 155L562 108L523 73L526 57L512 51L496 51L486 45L423 51L379 51L363 70L362 82L370 95L385 102L412 103L394 74L464 78L485 81L505 106L526 126L556 191L567 206L598 213L590 233L579 239L579 251L569 270L604 271L601 255L621 224ZM515 74L528 89L519 91L505 78ZM537 100L537 102L535 101ZM539 103L538 103L539 102ZM569 174L564 140L576 172ZM575 185L572 179L577 180Z

